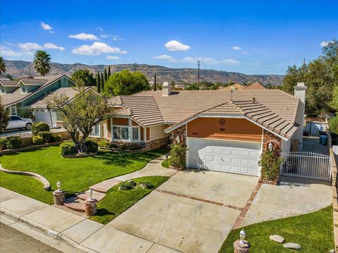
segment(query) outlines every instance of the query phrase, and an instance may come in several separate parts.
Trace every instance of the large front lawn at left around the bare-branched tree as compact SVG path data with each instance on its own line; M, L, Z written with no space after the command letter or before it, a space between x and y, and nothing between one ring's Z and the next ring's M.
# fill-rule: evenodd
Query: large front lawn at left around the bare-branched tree
M54 146L4 155L1 156L0 162L8 170L32 171L43 175L51 183L49 192L51 195L51 192L56 190L58 180L61 181L61 188L66 192L82 192L89 186L108 178L138 171L146 163L165 152L167 152L166 149L155 149L142 154L99 151L99 154L92 157L63 158L58 153L58 146ZM13 178L16 176L12 175ZM6 188L13 191L20 187L23 189L30 187L25 180L20 183L13 180L11 184L6 183L6 180L1 180L1 182L3 182L1 186L6 185ZM26 195L25 191L20 193ZM34 198L44 201L40 195Z

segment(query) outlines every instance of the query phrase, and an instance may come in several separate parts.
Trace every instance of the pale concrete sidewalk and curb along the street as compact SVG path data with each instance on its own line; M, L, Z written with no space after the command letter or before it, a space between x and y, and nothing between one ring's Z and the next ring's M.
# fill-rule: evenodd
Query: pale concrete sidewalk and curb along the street
M0 221L63 252L177 252L3 187Z

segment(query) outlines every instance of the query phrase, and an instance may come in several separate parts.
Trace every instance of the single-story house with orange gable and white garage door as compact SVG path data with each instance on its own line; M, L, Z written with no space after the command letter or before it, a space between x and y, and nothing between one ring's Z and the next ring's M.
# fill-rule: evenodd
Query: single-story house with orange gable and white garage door
M182 90L113 97L113 118L96 126L111 142L155 148L187 144L187 167L260 175L261 152L301 150L306 87L281 90ZM271 145L270 145L271 146Z

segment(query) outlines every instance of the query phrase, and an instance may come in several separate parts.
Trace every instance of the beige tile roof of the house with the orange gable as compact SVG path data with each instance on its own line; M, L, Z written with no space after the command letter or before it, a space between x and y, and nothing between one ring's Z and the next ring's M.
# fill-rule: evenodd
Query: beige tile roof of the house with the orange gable
M240 114L284 137L296 129L299 104L299 99L281 90L183 90L173 91L168 97L163 97L160 90L113 97L110 101L123 106L118 114L130 115L144 126L176 124L202 112Z

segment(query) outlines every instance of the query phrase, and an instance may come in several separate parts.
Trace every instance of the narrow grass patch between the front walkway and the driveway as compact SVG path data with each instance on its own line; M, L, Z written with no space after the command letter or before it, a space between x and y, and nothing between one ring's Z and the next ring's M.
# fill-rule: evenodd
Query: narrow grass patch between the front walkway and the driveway
M139 183L140 181L147 181L151 183L154 188L158 187L169 177L165 176L149 176L134 179L135 183ZM115 185L111 190L109 190L106 196L101 199L99 204L97 204L97 214L95 216L91 216L90 218L99 223L106 224L109 221L112 221L116 216L123 213L123 211L127 210L142 199L146 195L148 195L153 189L144 189L144 188L134 188L133 190L118 190L120 184Z

